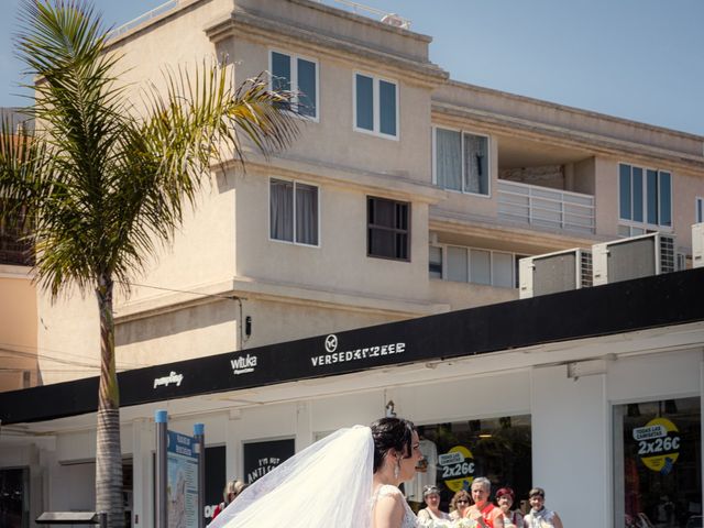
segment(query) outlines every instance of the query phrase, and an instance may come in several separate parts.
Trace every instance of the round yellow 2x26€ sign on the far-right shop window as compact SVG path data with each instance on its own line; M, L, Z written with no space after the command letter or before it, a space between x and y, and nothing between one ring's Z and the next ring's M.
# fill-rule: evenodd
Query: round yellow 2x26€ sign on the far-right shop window
M680 457L680 431L667 418L654 418L634 429L638 457L649 470L667 475Z

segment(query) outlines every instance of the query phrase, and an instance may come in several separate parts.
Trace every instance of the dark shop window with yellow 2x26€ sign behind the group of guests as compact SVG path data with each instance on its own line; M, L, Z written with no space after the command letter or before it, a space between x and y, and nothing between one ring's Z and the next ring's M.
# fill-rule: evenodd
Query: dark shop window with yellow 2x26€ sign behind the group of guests
M532 486L530 416L505 416L418 427L420 450L427 465L405 484L408 501L422 502L422 487L441 490L441 509L448 512L452 495L469 488L477 476L492 488L510 486L527 497ZM518 501L516 507L518 507Z

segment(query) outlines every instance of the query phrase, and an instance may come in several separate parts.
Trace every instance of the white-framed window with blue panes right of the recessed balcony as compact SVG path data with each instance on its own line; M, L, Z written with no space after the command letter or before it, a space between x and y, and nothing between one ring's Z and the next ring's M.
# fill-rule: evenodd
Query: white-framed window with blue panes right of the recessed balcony
M672 227L672 176L664 170L618 166L618 232L625 237Z

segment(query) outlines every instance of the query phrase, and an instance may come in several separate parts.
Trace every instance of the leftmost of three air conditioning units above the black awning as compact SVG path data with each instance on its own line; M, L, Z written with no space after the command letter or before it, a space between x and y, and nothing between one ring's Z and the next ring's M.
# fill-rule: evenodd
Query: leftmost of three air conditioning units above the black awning
M592 285L592 252L575 248L521 258L518 278L521 299L588 287Z

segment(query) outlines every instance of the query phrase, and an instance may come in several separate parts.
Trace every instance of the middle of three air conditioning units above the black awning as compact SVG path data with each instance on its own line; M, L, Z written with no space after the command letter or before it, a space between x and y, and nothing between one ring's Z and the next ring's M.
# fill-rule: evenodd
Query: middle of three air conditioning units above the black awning
M592 246L594 286L676 271L674 235L648 233Z

